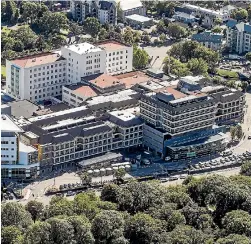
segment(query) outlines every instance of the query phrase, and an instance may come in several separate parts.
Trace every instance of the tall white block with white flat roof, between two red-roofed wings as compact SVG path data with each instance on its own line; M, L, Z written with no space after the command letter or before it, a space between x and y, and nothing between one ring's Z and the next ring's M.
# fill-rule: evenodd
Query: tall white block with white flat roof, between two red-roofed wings
M106 53L87 42L64 46L62 56L67 60L68 83L78 83L81 77L105 73Z

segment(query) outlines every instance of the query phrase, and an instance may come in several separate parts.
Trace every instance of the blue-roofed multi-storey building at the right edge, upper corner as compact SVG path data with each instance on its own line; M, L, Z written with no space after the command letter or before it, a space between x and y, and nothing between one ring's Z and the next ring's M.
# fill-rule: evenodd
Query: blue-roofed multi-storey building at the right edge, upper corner
M229 20L226 35L230 52L242 54L251 51L251 25L249 23Z

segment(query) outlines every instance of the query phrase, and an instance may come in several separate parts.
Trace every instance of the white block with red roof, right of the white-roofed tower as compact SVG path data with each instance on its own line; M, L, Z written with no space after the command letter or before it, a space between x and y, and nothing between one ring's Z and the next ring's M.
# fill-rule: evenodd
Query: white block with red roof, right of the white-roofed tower
M106 72L119 74L132 71L133 47L117 41L104 41L98 47L106 52Z

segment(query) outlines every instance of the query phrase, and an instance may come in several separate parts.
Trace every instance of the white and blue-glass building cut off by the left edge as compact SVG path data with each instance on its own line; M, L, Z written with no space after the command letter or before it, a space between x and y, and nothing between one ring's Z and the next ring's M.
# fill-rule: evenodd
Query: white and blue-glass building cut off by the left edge
M37 149L19 140L23 130L7 115L1 116L2 178L34 178L39 175Z

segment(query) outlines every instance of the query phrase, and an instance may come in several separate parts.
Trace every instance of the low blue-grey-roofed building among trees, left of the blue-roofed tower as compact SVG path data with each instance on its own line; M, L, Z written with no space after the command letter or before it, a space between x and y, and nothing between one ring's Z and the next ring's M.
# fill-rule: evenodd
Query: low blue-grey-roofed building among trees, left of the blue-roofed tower
M219 33L212 33L211 31L205 31L197 34L193 34L193 41L201 43L203 46L210 48L214 51L218 51L222 48L223 35Z

